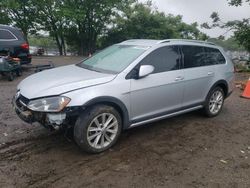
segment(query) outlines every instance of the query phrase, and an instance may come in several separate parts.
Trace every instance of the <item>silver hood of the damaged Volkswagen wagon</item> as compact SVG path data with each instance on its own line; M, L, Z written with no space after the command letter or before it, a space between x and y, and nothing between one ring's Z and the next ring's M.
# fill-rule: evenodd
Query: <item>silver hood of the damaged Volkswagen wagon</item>
M33 99L107 83L115 76L68 65L33 74L24 79L17 89L26 98Z

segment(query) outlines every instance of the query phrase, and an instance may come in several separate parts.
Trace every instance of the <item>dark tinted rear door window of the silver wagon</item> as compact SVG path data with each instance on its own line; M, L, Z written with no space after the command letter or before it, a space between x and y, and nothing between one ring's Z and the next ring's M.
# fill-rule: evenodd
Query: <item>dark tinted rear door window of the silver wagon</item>
M184 68L205 66L206 54L202 46L182 46Z

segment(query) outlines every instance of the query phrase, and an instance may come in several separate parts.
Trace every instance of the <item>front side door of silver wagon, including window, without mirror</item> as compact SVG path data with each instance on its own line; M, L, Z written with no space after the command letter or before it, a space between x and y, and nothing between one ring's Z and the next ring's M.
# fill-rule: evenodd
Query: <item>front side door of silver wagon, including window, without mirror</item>
M182 106L183 70L177 46L165 46L147 55L142 65L154 66L147 77L131 79L132 123L165 115Z

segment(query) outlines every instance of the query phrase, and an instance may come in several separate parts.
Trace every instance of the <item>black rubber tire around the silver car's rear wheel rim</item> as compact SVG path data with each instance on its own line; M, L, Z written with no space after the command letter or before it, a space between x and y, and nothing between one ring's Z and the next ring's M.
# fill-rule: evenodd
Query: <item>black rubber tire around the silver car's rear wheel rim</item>
M223 94L223 102L222 102L222 106L221 106L220 110L216 114L214 114L214 113L211 113L210 110L209 110L209 102L210 102L210 99L211 99L212 95L216 91L220 91ZM225 100L225 93L224 93L224 91L223 91L223 89L221 87L215 87L215 88L211 89L209 91L208 95L207 95L207 98L206 98L206 103L205 103L205 107L204 107L205 115L208 116L208 117L215 117L215 116L219 115L222 108L223 108L224 100Z

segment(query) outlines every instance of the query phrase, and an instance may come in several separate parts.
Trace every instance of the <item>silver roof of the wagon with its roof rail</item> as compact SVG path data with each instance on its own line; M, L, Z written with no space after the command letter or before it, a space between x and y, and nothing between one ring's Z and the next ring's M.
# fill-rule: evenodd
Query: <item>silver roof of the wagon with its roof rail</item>
M208 41L201 40L187 40L187 39L164 39L164 40L150 40L150 39L131 39L119 43L120 45L138 45L138 46L157 46L163 43L176 44L176 45L195 45L195 46L208 46L216 48L217 46Z

